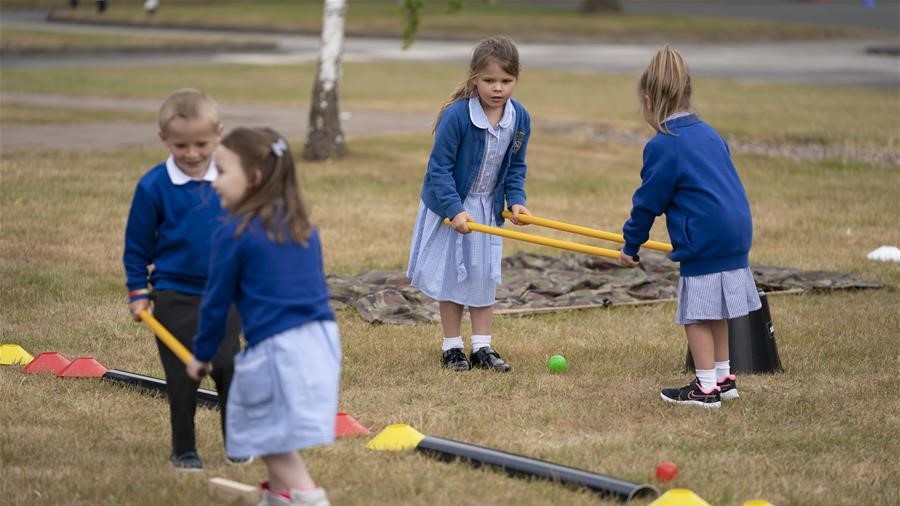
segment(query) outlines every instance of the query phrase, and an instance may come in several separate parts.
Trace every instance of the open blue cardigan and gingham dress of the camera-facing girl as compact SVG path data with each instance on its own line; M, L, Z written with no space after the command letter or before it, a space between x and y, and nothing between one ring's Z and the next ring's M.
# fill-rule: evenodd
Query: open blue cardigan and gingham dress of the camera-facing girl
M503 241L460 234L444 224L463 210L477 222L502 226L504 204L525 204L525 149L530 119L509 100L492 126L477 97L441 115L413 227L407 277L432 299L470 307L496 300Z

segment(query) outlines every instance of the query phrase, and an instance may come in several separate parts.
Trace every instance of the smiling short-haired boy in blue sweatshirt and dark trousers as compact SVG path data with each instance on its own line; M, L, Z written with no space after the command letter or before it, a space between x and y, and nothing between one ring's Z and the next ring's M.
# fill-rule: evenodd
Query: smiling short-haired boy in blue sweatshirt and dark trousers
M159 110L159 138L169 158L150 169L137 184L125 228L123 261L128 286L128 308L140 321L140 312L154 316L191 349L197 330L200 302L209 270L210 242L225 214L212 188L218 175L212 154L222 137L218 106L206 93L180 89ZM225 437L225 406L240 349L240 319L232 311L225 343L214 363ZM170 461L178 470L200 470L194 413L198 381L157 339L166 375L172 426Z

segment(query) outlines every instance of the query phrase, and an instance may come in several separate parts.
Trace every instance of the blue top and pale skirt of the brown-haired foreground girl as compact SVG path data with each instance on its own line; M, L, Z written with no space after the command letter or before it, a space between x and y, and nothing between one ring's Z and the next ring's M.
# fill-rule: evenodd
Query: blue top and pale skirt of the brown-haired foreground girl
M235 357L228 398L229 457L271 455L334 441L340 336L328 303L319 234L306 244L272 241L240 218L213 236L197 360L215 354L234 301L247 347Z

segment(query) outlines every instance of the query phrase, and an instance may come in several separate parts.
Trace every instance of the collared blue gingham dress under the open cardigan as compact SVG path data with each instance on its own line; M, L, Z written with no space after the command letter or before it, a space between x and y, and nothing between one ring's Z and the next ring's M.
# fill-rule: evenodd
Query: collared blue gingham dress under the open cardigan
M493 127L478 97L473 97L469 99L469 119L485 130L485 154L463 208L475 222L497 226L494 190L500 164L512 141L516 110L507 101L500 123ZM500 237L480 232L460 234L444 224L443 216L419 202L406 276L425 295L469 307L493 305L502 257Z

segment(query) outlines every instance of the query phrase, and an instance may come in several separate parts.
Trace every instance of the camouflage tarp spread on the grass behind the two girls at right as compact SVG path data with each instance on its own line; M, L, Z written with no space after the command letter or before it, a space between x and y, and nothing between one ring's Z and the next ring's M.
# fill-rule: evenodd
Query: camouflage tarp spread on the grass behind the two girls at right
M783 291L880 288L859 276L751 265L757 287ZM503 283L497 288L496 313L542 313L574 307L602 307L673 300L678 264L662 253L641 252L641 268L626 269L601 257L559 257L522 253L503 259ZM402 271L372 271L358 276L329 276L335 309L356 308L372 323L412 324L438 321L437 302L409 286Z

